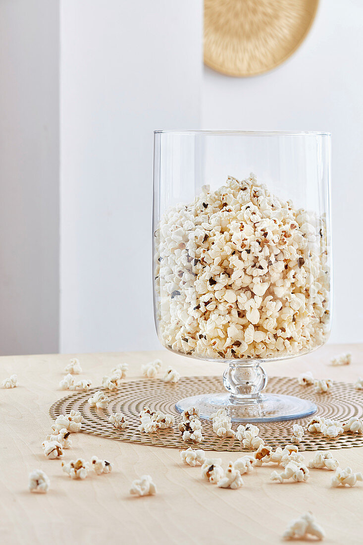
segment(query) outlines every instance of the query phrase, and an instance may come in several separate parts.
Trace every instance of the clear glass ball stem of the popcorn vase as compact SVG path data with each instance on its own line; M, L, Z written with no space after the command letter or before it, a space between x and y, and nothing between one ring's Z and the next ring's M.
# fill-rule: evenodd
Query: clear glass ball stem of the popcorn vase
M233 403L256 403L267 385L267 374L258 362L251 365L230 363L223 373L223 384Z

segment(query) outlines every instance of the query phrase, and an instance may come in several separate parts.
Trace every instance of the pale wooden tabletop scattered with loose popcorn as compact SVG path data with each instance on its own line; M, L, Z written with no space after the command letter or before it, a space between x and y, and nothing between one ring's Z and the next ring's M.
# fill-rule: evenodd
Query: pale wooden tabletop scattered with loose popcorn
M351 352L349 366L331 367L329 360ZM93 455L114 463L111 474L90 473L74 481L61 461L47 460L41 443L50 433L50 405L68 395L58 389L64 367L74 355L5 356L0 358L0 382L16 373L19 387L0 389L0 543L227 544L282 543L288 522L311 510L326 531L324 543L363 543L363 483L332 488L332 472L311 470L306 483L269 480L273 467L258 467L243 477L245 486L221 489L201 479L200 467L181 464L177 449L162 449L87 435L72 434L73 446L64 459ZM141 364L161 358L184 375L217 375L222 367L160 350L122 354L76 355L93 386L120 362L128 362L128 377L140 376ZM363 344L328 345L285 362L271 362L271 375L295 377L312 371L316 378L354 381L363 374ZM146 400L147 402L147 400ZM234 426L235 427L235 426ZM203 447L203 445L201 445ZM342 467L363 471L363 447L332 451ZM314 456L306 452L308 461ZM218 452L223 464L238 453ZM28 474L43 469L51 480L47 494L28 491ZM131 482L152 475L155 496L130 496Z

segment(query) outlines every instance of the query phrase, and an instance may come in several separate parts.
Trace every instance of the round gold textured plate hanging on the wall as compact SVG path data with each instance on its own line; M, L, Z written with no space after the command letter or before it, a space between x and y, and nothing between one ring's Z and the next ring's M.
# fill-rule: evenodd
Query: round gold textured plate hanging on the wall
M306 37L318 0L204 0L204 63L254 76L283 63Z

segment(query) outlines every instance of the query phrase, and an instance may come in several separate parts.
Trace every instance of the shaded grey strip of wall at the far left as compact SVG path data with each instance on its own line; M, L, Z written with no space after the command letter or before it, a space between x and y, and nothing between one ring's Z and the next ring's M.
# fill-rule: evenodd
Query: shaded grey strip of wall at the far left
M0 2L0 354L58 351L56 0Z

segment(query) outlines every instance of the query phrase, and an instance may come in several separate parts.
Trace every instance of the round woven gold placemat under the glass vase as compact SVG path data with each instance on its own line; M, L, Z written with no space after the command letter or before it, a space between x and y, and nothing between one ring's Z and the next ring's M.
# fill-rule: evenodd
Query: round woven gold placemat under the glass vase
M110 398L107 409L95 409L89 406L87 400L98 388L88 392L73 393L59 399L50 408L53 419L59 414L69 413L71 409L80 410L83 415L83 433L98 435L108 439L130 441L143 445L154 445L185 449L190 444L181 439L178 431L181 416L175 409L178 399L208 392L225 391L220 377L183 377L177 384L165 383L161 379L130 380L125 382L116 391L105 390ZM312 386L300 386L297 379L288 377L271 377L267 391L310 399L317 404L318 411L314 416L325 416L332 419L347 421L351 416L361 417L363 414L363 391L355 390L353 384L334 382L330 393L316 393ZM175 416L174 428L162 429L156 433L138 431L140 425L139 414L144 405L152 410L161 410ZM129 427L120 431L108 423L111 413L123 413ZM294 423L301 424L306 430L311 417L285 422L259 422L260 437L270 447L276 449L290 443ZM233 425L234 429L236 425ZM221 439L216 436L211 421L203 420L204 440L198 448L203 450L217 450L229 452L246 451L243 445L235 438ZM193 445L196 446L196 445ZM300 450L328 450L343 449L354 446L363 446L363 435L344 433L334 439L323 437L305 431L300 444Z

